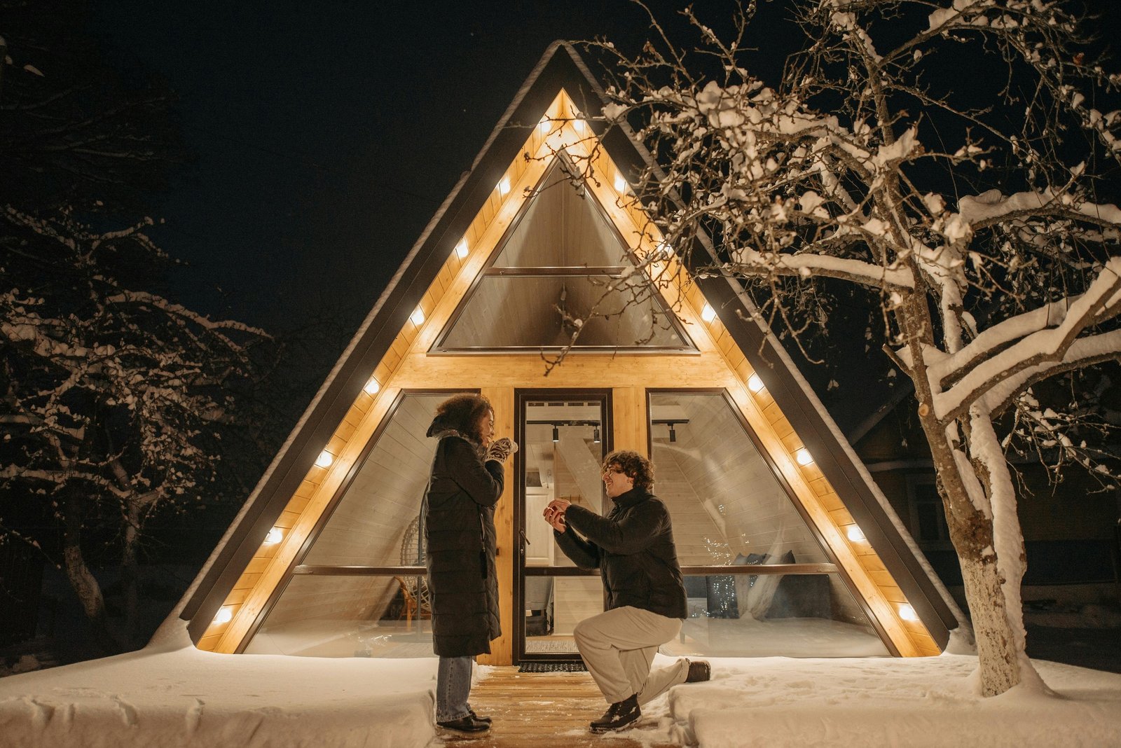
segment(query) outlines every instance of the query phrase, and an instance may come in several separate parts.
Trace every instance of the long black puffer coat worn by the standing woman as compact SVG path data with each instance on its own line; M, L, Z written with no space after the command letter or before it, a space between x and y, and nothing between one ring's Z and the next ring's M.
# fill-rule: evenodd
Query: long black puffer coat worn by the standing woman
M439 443L424 498L433 649L441 657L484 654L501 635L494 505L502 495L502 464L483 462L482 448L455 431L436 429L435 436Z

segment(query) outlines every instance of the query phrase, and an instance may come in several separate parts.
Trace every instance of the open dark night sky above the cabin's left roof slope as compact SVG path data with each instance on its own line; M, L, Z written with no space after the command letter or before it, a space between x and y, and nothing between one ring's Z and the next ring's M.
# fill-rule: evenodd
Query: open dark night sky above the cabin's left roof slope
M195 160L154 207L189 263L173 294L270 331L356 327L549 43L648 34L623 0L93 4L114 64L179 96Z

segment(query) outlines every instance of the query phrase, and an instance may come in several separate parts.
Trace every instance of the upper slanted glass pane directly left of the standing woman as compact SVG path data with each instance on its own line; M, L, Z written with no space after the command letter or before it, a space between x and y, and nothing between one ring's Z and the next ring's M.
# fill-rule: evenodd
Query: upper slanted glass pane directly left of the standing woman
M436 440L425 437L447 394L406 394L303 563L424 565L420 502Z

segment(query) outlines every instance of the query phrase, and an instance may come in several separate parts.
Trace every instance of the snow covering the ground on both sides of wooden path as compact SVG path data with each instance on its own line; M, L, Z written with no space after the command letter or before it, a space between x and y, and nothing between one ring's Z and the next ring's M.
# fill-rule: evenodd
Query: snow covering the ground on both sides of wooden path
M711 662L712 681L675 688L617 735L713 748L1121 746L1113 673L1037 662L1055 695L981 699L967 655ZM0 680L0 746L423 748L434 736L435 663L149 647Z

